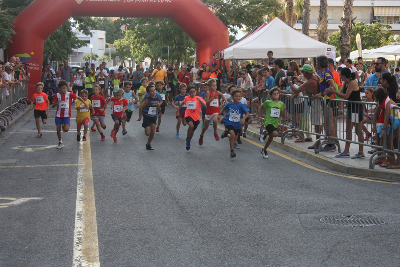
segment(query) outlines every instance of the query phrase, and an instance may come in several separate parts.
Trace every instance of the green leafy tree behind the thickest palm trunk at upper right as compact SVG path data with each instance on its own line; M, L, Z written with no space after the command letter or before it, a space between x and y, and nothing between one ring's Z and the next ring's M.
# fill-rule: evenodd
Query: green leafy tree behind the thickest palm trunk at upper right
M374 23L366 25L364 22L358 22L353 26L350 38L350 47L352 51L357 50L355 37L357 33L361 35L362 49L372 49L385 46L393 42L393 34L388 24ZM340 56L340 31L336 31L328 38L328 44L336 47L336 56Z

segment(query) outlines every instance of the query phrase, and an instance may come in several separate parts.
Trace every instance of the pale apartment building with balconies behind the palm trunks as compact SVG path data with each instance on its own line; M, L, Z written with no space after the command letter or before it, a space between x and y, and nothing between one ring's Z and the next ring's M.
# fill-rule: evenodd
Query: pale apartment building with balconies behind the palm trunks
M327 0L328 3L328 32L329 35L340 30L340 18L343 16L343 0ZM318 39L316 34L316 25L319 16L319 0L311 0L310 37ZM400 0L354 0L353 17L355 22L364 22L372 24L380 22L389 24L393 34L400 34ZM294 28L301 32L301 18L297 20Z

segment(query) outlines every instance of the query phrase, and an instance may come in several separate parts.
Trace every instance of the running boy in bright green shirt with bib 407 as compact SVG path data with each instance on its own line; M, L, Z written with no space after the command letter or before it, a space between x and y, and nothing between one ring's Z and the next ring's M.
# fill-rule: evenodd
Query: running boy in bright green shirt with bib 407
M269 136L264 148L261 149L263 158L268 158L266 149L268 149L268 146L271 144L273 137L278 136L277 128L279 126L279 118L284 115L284 111L286 110L286 105L279 101L279 89L277 87L272 88L269 91L269 95L271 100L266 100L258 109L258 123L261 124L259 116L261 114L261 108L265 108L265 128L259 137L260 142L264 142L266 135Z

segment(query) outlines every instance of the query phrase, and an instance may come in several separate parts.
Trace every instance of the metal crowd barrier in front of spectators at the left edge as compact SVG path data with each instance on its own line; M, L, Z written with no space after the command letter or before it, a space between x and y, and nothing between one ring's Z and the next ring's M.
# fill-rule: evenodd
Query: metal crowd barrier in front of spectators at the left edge
M7 95L7 91L9 95ZM27 108L28 83L22 81L21 84L9 87L8 89L0 89L0 120L4 126L9 126L9 121L13 120L13 115L19 115L19 111L25 111ZM0 131L1 134L1 131Z

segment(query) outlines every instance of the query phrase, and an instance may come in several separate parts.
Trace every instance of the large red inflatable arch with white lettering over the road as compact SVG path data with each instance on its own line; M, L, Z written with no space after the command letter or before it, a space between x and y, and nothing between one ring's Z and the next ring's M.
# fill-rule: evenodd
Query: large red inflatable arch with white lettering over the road
M7 50L30 63L29 98L41 80L45 39L71 16L171 18L196 42L201 63L229 45L227 28L200 0L35 0L16 17Z

